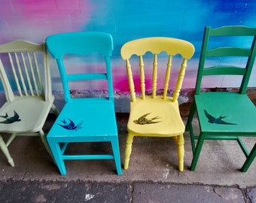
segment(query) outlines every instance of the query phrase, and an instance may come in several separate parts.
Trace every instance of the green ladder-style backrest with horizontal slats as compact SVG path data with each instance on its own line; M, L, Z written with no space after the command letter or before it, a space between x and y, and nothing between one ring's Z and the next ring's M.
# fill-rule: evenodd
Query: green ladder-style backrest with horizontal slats
M256 55L255 38L256 28L249 28L245 26L222 26L212 29L206 26L203 36L202 50L200 54L200 64L197 74L197 84L195 93L200 94L203 76L207 75L240 75L242 77L239 92L244 94L248 86L248 80L251 75L251 69L254 65ZM250 41L247 43L240 43L240 40ZM220 44L220 41L232 43L233 46ZM212 43L212 44L211 44ZM233 64L224 59L236 59ZM240 62L245 61L240 64ZM224 61L224 64L221 62ZM209 62L210 63L207 63ZM210 64L210 65L209 65ZM227 80L230 79L227 77ZM226 86L230 87L230 86Z

